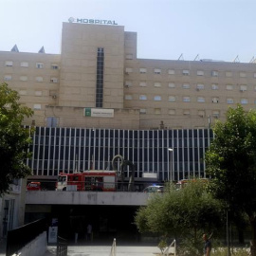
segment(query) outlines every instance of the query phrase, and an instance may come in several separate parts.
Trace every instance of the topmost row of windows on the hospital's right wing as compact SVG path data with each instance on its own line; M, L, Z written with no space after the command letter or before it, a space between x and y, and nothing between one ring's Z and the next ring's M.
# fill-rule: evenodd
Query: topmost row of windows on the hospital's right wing
M133 68L133 67L126 67L126 68L125 68L125 73L126 73L126 74L133 73L133 72L134 72L134 68ZM146 68L146 67L140 67L140 68L138 68L138 72L139 72L140 74L146 74L146 73L148 73L148 68ZM162 71L162 69L160 69L160 68L154 68L154 69L153 69L153 72L154 72L154 74L158 74L158 75L163 74L163 71ZM235 73L236 73L236 72L235 72ZM181 75L183 75L183 76L190 76L190 75L191 75L191 70L189 70L189 69L183 69L183 70L168 69L168 70L167 70L167 74L168 74L168 75L181 74ZM196 71L196 75L197 75L197 76L200 76L200 77L203 77L203 76L205 76L205 71L203 71L203 70L197 70L197 71ZM211 76L211 77L219 77L219 75L220 75L220 72L219 72L219 71L216 71L216 70L210 71L210 76ZM231 77L233 77L233 75L234 75L234 72L225 71L225 76L226 76L227 78L231 78ZM243 72L239 72L239 77L240 77L240 78L247 78L247 77L250 77L250 75L248 75L247 72L244 72L244 71L243 71ZM256 78L256 72L253 73L253 78Z

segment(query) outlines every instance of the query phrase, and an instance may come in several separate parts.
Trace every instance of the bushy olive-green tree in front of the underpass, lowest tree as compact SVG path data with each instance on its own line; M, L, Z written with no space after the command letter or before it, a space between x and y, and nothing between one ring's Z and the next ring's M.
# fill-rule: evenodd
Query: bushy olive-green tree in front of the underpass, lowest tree
M221 216L220 202L207 192L206 184L195 180L184 189L156 193L146 207L137 210L135 222L140 232L192 241L192 246L197 248L193 255L201 255L203 232L220 227Z

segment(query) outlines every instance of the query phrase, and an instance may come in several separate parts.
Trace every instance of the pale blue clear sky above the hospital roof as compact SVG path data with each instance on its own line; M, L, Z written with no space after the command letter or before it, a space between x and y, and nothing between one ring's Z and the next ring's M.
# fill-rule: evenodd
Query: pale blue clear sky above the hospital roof
M256 0L0 0L0 9L0 51L60 54L63 22L74 17L137 32L140 59L256 59Z

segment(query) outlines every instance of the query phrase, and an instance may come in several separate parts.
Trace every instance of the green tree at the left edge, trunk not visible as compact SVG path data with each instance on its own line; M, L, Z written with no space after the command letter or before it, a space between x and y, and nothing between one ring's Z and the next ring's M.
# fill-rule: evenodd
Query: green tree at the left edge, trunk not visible
M31 116L32 110L19 103L18 93L7 83L0 84L0 196L9 192L13 179L31 174L25 163L31 138L22 127L25 117Z

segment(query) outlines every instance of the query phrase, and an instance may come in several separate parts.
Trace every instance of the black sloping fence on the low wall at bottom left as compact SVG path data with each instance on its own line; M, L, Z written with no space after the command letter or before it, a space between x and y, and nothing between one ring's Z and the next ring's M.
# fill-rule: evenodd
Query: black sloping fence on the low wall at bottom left
M10 256L47 230L46 219L8 231L6 256Z

